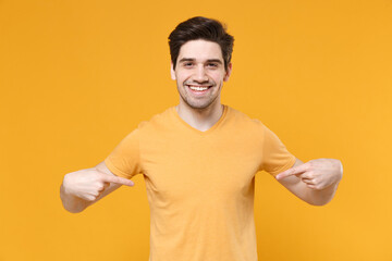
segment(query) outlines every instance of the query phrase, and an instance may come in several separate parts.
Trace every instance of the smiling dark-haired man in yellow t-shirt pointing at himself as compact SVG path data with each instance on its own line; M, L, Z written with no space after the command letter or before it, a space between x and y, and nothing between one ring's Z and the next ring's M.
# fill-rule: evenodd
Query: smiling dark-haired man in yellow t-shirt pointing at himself
M69 173L61 199L81 212L142 173L151 214L150 260L257 260L255 174L267 171L302 200L329 202L339 160L303 163L260 121L221 104L233 37L194 17L169 36L180 103L143 122L97 166ZM279 175L278 175L279 174Z

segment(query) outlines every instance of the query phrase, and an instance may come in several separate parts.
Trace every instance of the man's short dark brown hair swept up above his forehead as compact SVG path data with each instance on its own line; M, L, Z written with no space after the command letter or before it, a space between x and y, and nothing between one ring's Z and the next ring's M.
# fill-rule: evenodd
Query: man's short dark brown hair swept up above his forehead
M226 26L217 20L196 16L179 24L169 36L170 55L175 69L180 48L189 40L208 40L217 42L228 70L233 52L234 37L226 33Z

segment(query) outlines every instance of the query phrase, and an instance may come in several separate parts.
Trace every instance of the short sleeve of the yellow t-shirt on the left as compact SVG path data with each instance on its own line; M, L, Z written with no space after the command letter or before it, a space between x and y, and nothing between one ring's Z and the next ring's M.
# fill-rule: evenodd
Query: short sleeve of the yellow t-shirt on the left
M138 129L130 133L105 159L105 164L115 175L132 178L142 172Z

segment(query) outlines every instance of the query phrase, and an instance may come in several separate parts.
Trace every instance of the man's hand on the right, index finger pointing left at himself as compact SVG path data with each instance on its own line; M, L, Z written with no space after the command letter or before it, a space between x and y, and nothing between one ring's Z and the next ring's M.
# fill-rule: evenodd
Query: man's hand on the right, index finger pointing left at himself
M299 177L309 188L321 190L342 179L343 166L341 161L335 159L310 160L280 173L277 179L291 175Z

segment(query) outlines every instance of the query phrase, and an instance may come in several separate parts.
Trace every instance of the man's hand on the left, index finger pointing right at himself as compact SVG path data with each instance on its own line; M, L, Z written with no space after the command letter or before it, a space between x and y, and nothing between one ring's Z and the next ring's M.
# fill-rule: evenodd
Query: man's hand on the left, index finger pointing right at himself
M96 169L87 169L66 174L63 181L63 188L69 195L87 201L94 201L111 183L134 186L132 181L124 177L111 176Z

